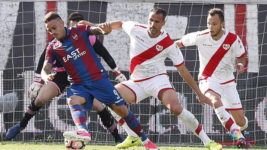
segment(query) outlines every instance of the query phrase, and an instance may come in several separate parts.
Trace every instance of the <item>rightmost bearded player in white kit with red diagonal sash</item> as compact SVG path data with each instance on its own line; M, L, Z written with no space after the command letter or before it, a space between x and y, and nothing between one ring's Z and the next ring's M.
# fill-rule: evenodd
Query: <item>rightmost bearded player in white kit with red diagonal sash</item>
M216 115L228 132L237 131L238 126L244 132L248 119L244 116L236 89L231 59L234 54L237 58L238 74L243 73L245 48L238 35L222 28L224 15L221 9L213 8L209 11L207 26L208 29L184 35L175 43L179 47L198 46L198 82L201 92L211 99ZM226 110L230 111L232 116ZM239 141L244 140L241 133L232 137ZM240 141L238 144L238 148L248 148L245 142Z

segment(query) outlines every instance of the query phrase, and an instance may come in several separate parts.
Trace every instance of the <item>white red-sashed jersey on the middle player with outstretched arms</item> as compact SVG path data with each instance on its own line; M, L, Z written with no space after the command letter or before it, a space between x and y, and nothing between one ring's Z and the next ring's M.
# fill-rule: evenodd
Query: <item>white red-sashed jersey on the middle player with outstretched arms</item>
M145 24L127 21L122 28L130 36L130 79L145 80L166 73L167 57L174 66L184 63L183 54L165 30L161 29L157 38L150 38Z

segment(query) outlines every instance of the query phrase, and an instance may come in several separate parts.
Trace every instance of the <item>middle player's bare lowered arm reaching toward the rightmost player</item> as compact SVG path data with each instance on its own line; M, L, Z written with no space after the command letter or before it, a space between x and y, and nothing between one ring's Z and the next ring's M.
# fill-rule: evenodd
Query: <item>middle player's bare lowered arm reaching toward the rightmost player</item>
M179 71L179 74L181 75L181 77L184 78L184 80L187 82L187 84L189 86L191 86L191 88L196 92L196 94L198 95L199 102L203 106L205 105L204 103L213 106L211 100L201 93L200 89L198 88L198 85L194 81L192 75L189 73L189 71L187 70L185 65L183 64L183 65L176 67L176 68Z

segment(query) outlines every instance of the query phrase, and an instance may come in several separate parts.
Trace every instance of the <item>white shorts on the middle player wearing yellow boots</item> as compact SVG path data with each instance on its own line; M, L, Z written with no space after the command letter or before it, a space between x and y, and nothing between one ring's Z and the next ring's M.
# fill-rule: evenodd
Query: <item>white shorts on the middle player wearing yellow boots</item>
M126 86L134 93L135 103L131 104L136 104L149 96L158 98L160 92L163 90L175 90L174 86L171 84L169 76L166 73L139 81L133 81L130 79L119 84Z

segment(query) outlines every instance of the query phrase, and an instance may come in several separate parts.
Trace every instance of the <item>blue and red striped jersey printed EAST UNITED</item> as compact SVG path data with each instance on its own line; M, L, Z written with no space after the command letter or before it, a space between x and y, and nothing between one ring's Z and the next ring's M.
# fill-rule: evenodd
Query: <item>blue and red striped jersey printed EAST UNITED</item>
M100 63L90 43L90 26L75 25L66 28L64 41L56 38L46 48L47 63L56 59L63 65L74 83L84 83L107 77L108 74Z

